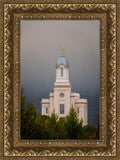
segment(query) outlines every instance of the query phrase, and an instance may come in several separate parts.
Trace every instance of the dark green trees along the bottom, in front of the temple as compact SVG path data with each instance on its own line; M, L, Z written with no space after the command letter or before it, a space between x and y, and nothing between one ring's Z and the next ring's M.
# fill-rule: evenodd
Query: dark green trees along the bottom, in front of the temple
M83 126L73 107L65 118L58 119L54 112L51 117L41 115L33 102L26 103L22 89L21 139L99 139L99 119L96 127Z

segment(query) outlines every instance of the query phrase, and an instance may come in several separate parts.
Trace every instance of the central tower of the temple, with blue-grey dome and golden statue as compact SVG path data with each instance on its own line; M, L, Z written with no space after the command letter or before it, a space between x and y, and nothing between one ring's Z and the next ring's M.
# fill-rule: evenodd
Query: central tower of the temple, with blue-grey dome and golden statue
M54 106L55 113L60 117L69 114L71 85L69 82L69 64L63 54L63 47L61 47L61 55L56 63L56 81L54 84Z

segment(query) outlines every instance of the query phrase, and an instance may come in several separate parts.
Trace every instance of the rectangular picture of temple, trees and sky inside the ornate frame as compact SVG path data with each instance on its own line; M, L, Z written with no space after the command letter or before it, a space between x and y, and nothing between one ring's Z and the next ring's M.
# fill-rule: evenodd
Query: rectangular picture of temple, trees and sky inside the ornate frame
M21 20L21 138L99 138L99 25L99 20Z

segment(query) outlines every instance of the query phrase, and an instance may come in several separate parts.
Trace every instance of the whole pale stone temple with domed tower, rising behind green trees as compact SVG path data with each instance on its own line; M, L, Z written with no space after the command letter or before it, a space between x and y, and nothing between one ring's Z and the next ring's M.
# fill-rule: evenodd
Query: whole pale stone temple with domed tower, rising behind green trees
M63 54L56 63L56 80L54 92L49 94L49 99L42 99L42 115L51 116L53 111L58 117L65 117L69 114L73 106L78 114L78 121L83 120L83 125L87 125L87 99L81 99L79 93L71 92L69 81L69 63Z

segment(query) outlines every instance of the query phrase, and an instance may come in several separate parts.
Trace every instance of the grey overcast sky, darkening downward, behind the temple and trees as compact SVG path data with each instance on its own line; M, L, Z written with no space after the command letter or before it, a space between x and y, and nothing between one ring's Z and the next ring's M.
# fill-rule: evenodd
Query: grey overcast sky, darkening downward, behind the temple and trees
M99 110L99 20L21 20L21 86L41 111L53 92L60 45L70 63L72 92L88 100L88 123Z

